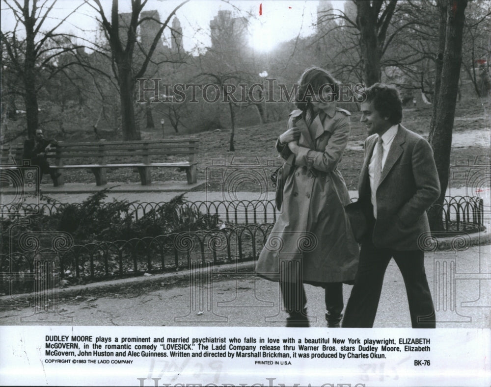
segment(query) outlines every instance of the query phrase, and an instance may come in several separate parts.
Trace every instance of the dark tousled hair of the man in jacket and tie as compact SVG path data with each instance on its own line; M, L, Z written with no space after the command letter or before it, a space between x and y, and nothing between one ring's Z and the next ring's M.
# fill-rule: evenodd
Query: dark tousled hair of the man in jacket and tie
M375 83L365 90L366 101L373 102L375 110L382 117L388 117L392 125L402 121L402 100L394 86L385 83Z

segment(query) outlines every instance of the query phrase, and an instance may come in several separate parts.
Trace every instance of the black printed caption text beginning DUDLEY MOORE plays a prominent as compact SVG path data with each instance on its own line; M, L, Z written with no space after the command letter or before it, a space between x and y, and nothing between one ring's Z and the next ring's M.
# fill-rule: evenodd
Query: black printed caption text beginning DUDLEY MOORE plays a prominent
M425 337L173 337L45 335L45 362L132 364L135 358L253 358L254 364L290 365L295 359L389 359L421 353L415 366L429 366Z

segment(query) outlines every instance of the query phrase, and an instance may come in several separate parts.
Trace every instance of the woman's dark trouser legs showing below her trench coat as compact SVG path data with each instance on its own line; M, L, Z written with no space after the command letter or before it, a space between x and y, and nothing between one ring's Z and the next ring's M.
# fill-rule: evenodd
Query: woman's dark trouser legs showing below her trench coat
M341 313L344 307L343 283L331 282L321 286L324 288L326 310L334 315ZM302 281L280 282L280 288L285 311L289 314L305 314L307 297Z

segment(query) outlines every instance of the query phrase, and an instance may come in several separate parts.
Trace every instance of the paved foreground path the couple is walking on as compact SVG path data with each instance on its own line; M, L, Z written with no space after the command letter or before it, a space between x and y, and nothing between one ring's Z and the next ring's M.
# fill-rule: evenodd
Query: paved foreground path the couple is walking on
M482 267L490 261L489 246L473 246L457 253L454 294L435 294L436 282L441 281L438 258L427 253L425 269L440 328L487 328L491 326L490 268ZM253 263L248 264L251 268ZM483 270L488 273L476 274ZM161 276L161 277L159 277ZM487 279L486 279L487 276ZM152 278L154 277L154 278ZM244 276L227 279L217 272L201 290L191 287L189 281L168 285L169 276L156 275L138 279L138 286L114 290L114 281L98 284L85 290L60 292L58 314L36 313L34 307L0 308L0 325L113 325L113 326L269 326L282 327L286 314L280 310L278 284L264 279ZM438 280L440 278L440 280ZM127 279L129 280L129 279ZM136 279L133 279L136 281ZM160 287L150 288L145 283L161 281ZM436 287L442 286L440 282ZM348 301L352 286L343 285L344 302ZM81 288L82 289L82 288ZM487 290L486 290L487 289ZM323 290L305 285L308 315L311 326L325 327ZM205 305L211 310L191 302L201 291ZM453 298L455 297L455 298ZM5 297L1 297L4 301ZM452 306L452 300L455 300ZM200 310L203 312L200 313ZM37 311L37 310L36 310ZM29 316L33 316L29 322ZM21 321L21 317L24 317ZM68 317L68 318L67 318ZM27 321L26 321L27 320ZM46 322L45 322L46 321ZM382 296L374 327L410 327L406 290L401 273L393 260L389 263L383 282Z

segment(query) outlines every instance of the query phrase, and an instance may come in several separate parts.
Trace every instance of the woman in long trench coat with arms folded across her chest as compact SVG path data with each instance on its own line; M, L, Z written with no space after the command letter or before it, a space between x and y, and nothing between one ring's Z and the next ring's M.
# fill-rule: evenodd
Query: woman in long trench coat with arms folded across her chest
M289 314L287 327L308 327L303 283L325 289L328 327L339 327L343 282L355 279L356 243L344 206L348 189L337 165L350 135L350 113L336 106L338 85L314 67L300 77L299 108L276 149L292 173L284 186L282 212L257 262L256 272L279 281Z

